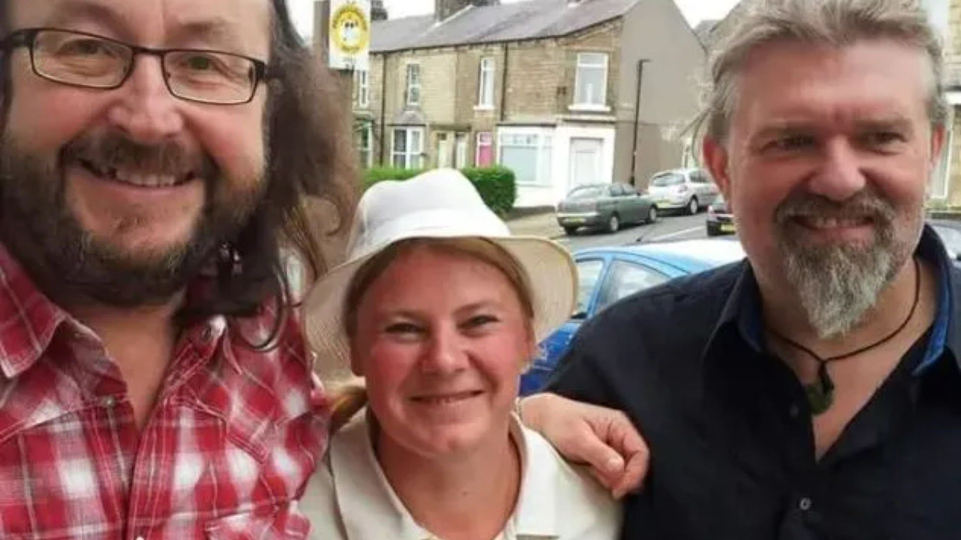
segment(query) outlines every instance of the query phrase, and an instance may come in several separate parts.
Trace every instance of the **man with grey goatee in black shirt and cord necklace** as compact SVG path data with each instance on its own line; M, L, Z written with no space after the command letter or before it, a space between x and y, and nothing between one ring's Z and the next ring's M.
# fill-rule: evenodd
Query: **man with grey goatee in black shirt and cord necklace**
M938 39L903 0L746 9L702 154L747 260L586 323L523 418L615 495L644 480L625 538L959 538L961 272L924 225Z

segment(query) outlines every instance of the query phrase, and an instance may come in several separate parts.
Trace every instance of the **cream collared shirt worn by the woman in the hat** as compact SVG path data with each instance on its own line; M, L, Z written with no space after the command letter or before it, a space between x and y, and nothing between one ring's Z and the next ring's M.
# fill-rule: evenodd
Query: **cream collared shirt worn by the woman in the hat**
M397 497L374 454L367 415L331 439L300 509L317 540L440 540L419 526ZM511 419L521 453L521 491L514 513L492 540L613 540L621 504L584 471L560 457L540 434Z

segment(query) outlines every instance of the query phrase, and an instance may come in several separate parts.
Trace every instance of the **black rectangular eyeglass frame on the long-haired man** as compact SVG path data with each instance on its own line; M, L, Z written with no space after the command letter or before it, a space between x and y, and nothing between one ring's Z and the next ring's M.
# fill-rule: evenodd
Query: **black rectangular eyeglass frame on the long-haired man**
M67 81L63 81L62 79L57 79L49 75L44 75L43 73L40 73L39 70L37 70L37 61L34 58L34 54L35 54L34 49L37 46L37 36L43 32L60 32L63 34L72 34L76 36L93 37L96 39L102 39L109 43L113 43L115 45L119 45L121 47L130 49L131 57L130 57L130 63L127 65L127 71L126 73L124 73L124 76L120 79L120 81L117 84L106 85L106 86L70 83ZM254 100L254 97L257 95L257 90L260 86L260 83L264 83L276 78L275 74L272 73L270 66L267 65L267 62L258 60L256 58L244 56L244 55L238 55L236 53L229 53L227 51L218 51L214 49L183 49L183 48L155 49L151 47L142 47L140 45L127 43L125 41L120 41L118 39L113 39L111 37L100 36L98 34L91 34L89 32L80 32L77 30L68 30L64 28L50 28L50 27L23 28L19 30L14 30L13 32L8 34L7 37L0 39L0 51L12 51L13 49L16 49L18 47L26 47L30 51L30 67L34 71L34 74L37 75L37 77L46 81L50 81L52 83L60 84L60 85L74 86L78 88L92 88L92 89L99 89L99 90L115 90L120 86L124 86L127 83L127 81L130 79L130 76L133 75L134 73L134 68L136 67L136 57L138 55L148 55L152 57L157 57L160 59L160 66L161 66L161 69L163 70L163 84L167 86L167 90L170 92L170 95L176 97L177 99L182 99L184 101L189 101L193 103L202 103L205 105L221 105L221 106L246 105ZM178 94L176 91L174 91L173 86L170 85L170 74L167 73L166 67L165 67L166 56L174 53L214 53L218 55L226 55L229 57L250 61L254 66L254 73L253 73L254 80L252 81L253 84L251 85L250 96L248 96L246 100L242 100L242 101L238 100L238 101L222 102L222 101L210 101L210 100L204 100L204 99L197 99L197 98L192 98L192 97Z

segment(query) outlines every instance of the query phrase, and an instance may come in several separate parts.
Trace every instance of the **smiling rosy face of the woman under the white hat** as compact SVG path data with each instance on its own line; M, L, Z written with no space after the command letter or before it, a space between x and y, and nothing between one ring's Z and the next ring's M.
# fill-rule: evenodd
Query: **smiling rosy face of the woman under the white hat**
M367 288L356 327L354 370L366 378L382 451L449 458L507 440L534 344L498 267L414 247Z

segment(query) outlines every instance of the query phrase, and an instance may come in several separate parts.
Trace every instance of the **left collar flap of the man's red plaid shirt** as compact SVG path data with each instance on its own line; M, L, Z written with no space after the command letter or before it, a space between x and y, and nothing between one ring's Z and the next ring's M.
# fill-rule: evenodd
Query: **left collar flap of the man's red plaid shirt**
M69 319L0 243L0 372L4 377L15 379L32 368Z

